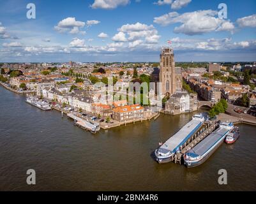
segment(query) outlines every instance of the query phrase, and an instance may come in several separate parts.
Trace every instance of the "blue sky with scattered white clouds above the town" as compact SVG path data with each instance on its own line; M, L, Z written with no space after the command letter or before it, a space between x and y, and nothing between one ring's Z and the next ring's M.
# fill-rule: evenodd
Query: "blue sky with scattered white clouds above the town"
M159 61L168 40L176 61L256 61L256 1L0 0L1 62Z

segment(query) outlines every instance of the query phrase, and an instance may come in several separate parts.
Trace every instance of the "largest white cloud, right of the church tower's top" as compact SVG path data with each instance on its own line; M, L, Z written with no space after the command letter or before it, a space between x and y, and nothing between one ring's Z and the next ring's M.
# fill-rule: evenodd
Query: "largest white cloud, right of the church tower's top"
M154 23L160 25L181 24L174 28L174 33L188 35L209 33L211 31L232 31L234 24L229 20L218 18L218 11L199 10L179 15L177 12L170 12L154 18Z

